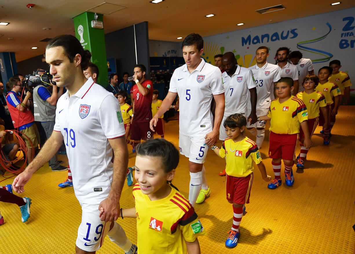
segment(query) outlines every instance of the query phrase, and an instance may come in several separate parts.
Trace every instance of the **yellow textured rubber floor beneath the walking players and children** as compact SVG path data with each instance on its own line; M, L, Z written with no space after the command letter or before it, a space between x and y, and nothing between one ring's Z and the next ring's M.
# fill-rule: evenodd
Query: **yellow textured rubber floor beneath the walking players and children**
M234 249L224 246L232 225L233 209L225 199L225 177L220 172L224 159L208 152L205 163L211 196L195 210L206 228L200 237L202 253L353 253L355 232L355 107L340 107L331 143L323 145L318 127L313 147L308 152L305 169L294 166L295 183L284 183L269 190L256 168L250 204L242 218L239 243ZM178 121L165 124L165 138L178 146ZM249 133L246 133L254 139ZM266 131L268 136L268 131ZM220 146L221 142L218 142ZM134 165L131 147L129 165ZM267 173L273 176L268 154L268 137L261 148ZM297 154L299 147L297 147ZM66 156L59 156L66 161ZM188 197L188 159L180 156L173 183ZM25 186L21 197L32 199L31 217L21 222L20 209L14 204L0 203L5 223L0 226L0 253L74 253L81 208L72 187L59 188L67 172L51 172L46 163ZM0 176L0 180L2 180ZM12 183L13 178L0 182ZM134 205L132 186L125 185L121 206ZM18 194L17 194L18 195ZM136 221L119 219L133 243L137 240ZM152 239L154 241L154 239ZM97 253L124 253L106 237Z

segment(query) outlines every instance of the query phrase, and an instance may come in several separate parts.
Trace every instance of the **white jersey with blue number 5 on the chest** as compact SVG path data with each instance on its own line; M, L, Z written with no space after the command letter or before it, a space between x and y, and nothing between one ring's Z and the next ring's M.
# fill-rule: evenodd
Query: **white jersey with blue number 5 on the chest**
M204 137L213 129L211 101L224 93L222 73L218 67L201 63L190 74L187 65L175 69L169 92L178 93L180 107L179 132L189 137Z

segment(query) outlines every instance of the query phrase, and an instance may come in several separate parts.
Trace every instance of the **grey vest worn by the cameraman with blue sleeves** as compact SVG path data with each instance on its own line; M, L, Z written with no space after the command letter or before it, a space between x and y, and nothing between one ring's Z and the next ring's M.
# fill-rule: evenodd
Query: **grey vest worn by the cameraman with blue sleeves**
M55 109L56 106L49 104L47 101L43 101L43 99L38 94L38 88L44 87L43 85L36 86L33 89L33 108L34 108L34 120L39 122L49 122L55 121ZM56 89L57 87L53 87Z

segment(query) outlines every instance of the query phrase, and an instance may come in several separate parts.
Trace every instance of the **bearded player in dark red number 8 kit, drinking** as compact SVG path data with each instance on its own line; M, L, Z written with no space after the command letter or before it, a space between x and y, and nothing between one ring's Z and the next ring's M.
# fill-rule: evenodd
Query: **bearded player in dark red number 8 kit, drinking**
M149 122L152 119L153 82L144 77L146 70L146 66L143 64L136 64L133 69L133 77L136 82L131 88L133 152L141 140L153 139L153 133L149 127Z

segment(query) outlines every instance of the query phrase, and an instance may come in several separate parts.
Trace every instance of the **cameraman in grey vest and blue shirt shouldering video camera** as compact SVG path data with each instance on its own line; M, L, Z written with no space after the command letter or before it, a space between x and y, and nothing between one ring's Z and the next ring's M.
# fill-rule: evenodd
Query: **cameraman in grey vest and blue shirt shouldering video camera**
M42 69L37 70L37 74L41 77L42 75L46 75L45 73L46 71ZM60 87L58 92L56 86L43 82L33 88L34 120L41 123L47 139L53 132L55 109L57 101L62 94L63 87ZM56 154L49 160L48 164L52 171L64 171L67 169L67 167L60 165Z

